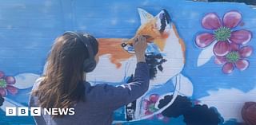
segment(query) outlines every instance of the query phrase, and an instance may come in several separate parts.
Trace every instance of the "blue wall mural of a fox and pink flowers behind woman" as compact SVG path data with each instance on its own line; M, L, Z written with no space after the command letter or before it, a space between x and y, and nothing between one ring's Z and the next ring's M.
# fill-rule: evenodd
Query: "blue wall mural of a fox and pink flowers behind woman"
M256 10L243 3L162 1L4 1L0 5L0 124L27 106L54 38L66 30L98 38L91 84L132 80L130 38L150 36L150 89L114 112L114 124L235 125L245 102L256 102ZM0 103L1 104L1 103Z

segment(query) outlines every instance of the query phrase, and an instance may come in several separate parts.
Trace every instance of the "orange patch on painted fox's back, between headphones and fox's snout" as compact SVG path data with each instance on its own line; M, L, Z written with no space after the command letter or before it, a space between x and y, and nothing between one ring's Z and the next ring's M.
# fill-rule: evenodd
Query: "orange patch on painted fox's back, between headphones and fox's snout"
M98 57L110 54L110 61L116 65L116 68L122 66L121 61L126 61L134 56L122 49L122 38L98 38L97 40Z

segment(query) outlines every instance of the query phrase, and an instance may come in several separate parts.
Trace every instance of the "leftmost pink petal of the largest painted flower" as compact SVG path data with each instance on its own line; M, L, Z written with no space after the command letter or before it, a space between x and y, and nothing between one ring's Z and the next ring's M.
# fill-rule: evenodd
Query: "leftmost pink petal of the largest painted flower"
M214 41L214 34L212 33L201 33L195 38L195 44L199 48L205 48Z

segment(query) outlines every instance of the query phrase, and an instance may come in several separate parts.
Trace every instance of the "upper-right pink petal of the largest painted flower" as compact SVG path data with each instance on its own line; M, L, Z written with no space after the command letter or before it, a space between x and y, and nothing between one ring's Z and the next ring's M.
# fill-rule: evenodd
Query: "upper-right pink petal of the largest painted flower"
M234 28L236 27L239 22L242 20L242 14L240 14L238 11L230 11L227 12L223 16L223 25L229 28Z

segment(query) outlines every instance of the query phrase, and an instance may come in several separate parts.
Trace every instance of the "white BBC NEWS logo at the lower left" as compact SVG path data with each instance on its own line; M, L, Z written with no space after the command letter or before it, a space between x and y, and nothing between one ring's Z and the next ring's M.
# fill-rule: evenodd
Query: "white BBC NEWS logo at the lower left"
M28 116L29 107L6 107L6 116ZM30 116L74 115L74 108L30 107Z

